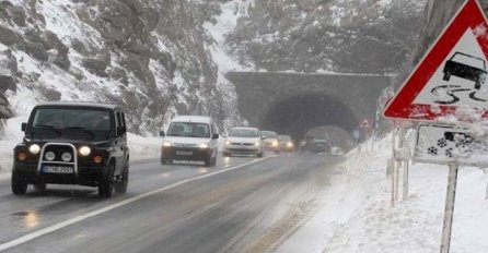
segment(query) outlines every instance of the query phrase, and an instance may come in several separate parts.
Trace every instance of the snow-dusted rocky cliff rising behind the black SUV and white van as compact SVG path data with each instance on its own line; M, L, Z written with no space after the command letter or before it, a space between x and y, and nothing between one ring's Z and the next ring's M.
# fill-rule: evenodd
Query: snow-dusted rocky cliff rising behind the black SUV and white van
M202 9L212 12L182 0L0 1L0 118L45 100L121 105L139 133L196 108L229 117Z

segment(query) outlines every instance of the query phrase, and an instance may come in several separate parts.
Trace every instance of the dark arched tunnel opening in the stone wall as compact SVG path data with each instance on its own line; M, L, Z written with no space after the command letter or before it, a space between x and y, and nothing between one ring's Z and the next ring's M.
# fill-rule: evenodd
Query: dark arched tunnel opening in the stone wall
M357 126L352 110L324 94L295 94L272 103L260 120L260 129L301 140L317 126L329 125L351 133Z

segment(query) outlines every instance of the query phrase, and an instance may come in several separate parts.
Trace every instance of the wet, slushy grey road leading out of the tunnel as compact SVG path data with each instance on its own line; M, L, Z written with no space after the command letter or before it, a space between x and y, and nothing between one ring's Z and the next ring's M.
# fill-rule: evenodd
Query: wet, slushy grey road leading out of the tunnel
M214 168L132 164L129 191L48 185L14 196L0 180L7 252L266 252L314 212L314 193L342 158L282 154L221 158Z

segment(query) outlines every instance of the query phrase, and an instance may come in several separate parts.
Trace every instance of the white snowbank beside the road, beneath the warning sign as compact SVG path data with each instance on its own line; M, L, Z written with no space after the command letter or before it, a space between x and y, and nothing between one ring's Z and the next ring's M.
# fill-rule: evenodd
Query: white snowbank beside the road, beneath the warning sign
M446 192L446 166L410 167L408 200L391 206L386 160L391 137L375 152L348 155L317 196L318 208L277 252L439 252ZM451 252L487 252L488 174L461 168Z

